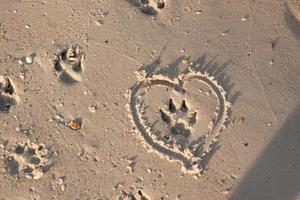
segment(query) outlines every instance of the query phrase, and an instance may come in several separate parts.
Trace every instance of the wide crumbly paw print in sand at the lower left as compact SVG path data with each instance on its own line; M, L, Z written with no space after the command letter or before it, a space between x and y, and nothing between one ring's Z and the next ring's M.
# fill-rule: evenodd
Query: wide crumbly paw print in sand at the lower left
M43 144L18 143L5 158L9 174L28 179L40 179L53 165L53 153Z

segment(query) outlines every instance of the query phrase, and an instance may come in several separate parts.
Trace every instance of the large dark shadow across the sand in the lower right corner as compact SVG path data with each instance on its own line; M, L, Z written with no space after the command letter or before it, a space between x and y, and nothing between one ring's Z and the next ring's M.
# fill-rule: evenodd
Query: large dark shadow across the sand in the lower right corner
M230 199L296 200L299 192L300 104L278 130Z

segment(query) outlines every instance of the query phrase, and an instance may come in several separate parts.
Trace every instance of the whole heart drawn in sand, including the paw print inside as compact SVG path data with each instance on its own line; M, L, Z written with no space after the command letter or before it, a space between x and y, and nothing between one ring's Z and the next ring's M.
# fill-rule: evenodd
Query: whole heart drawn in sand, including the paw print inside
M184 172L204 173L229 121L231 103L225 89L192 62L173 78L149 74L145 68L137 71L137 78L126 94L126 108L144 144L170 161L181 162Z

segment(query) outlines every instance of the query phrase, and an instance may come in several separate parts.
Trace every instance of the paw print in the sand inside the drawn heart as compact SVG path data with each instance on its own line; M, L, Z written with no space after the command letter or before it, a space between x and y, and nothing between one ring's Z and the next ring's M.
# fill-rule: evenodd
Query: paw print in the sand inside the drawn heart
M171 147L177 144L183 150L189 142L191 128L196 124L197 111L190 110L185 100L177 107L170 98L168 108L159 109L159 112L169 130L163 135L164 141Z

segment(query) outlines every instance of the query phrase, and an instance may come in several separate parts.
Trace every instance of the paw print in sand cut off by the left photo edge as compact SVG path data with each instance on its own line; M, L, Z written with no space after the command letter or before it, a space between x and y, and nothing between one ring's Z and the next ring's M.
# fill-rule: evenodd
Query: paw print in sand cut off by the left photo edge
M0 76L0 111L8 112L19 102L16 87L8 76Z

